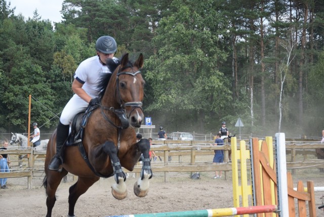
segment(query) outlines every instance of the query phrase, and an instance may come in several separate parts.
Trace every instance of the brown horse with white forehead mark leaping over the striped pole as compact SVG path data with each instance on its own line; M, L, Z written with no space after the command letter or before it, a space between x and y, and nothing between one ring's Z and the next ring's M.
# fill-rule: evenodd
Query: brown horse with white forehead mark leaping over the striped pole
M127 196L126 175L121 167L130 171L143 154L143 167L134 185L134 193L145 197L152 177L147 139L136 141L134 128L144 122L142 100L144 80L139 71L143 66L143 55L132 63L129 55L124 55L120 64L107 61L114 73L111 78L102 78L99 107L92 111L85 127L82 143L67 146L64 150L64 163L61 171L48 169L56 152L56 131L54 131L46 153L44 187L46 189L47 216L52 215L56 197L55 192L61 179L68 173L78 176L77 182L69 189L68 216L74 216L74 206L80 195L84 194L100 177L114 176L112 195L116 199ZM109 76L110 77L110 76ZM108 82L109 80L109 82ZM82 148L84 147L84 148Z

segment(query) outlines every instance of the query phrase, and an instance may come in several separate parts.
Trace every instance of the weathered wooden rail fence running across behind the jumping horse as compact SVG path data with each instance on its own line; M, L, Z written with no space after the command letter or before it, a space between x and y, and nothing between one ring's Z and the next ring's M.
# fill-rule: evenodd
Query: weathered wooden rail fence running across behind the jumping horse
M296 143L297 142L297 143ZM231 162L228 159L229 150L231 150L230 144L224 146L210 146L214 143L214 140L210 141L180 141L180 140L154 140L154 145L151 146L151 151L154 151L157 156L163 158L163 162L152 162L153 172L164 172L165 182L168 181L168 172L205 172L205 171L225 171L225 178L227 172L232 171ZM239 144L239 141L237 142ZM249 142L246 143L247 148ZM240 147L237 145L237 148ZM324 168L324 160L307 159L307 156L312 155L315 148L324 148L324 144L317 143L301 143L299 141L287 141L286 150L291 155L291 162L287 162L288 169L309 169L309 168ZM214 150L224 150L225 163L212 164ZM28 177L28 189L32 186L32 177L35 171L44 170L44 164L35 163L36 161L44 161L46 156L46 150L37 151L31 148L29 149L11 149L1 151L4 154L10 155L28 155L29 157L24 159L27 162L26 165L19 171L13 169L11 172L0 173L0 178L3 177ZM296 156L298 154L304 155L301 160L298 160ZM169 156L173 159L169 162ZM184 158L185 156L189 156ZM201 156L203 161L201 161ZM306 156L306 157L305 157ZM198 160L200 159L200 161ZM13 164L11 164L13 165ZM135 166L133 172L140 172L141 165ZM125 170L128 172L127 170Z

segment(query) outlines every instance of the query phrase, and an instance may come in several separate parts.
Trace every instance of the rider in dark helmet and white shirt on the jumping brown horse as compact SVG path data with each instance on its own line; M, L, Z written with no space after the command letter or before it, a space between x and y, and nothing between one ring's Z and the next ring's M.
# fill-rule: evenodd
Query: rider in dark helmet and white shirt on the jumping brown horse
M99 103L97 89L102 74L112 73L106 66L107 59L114 59L117 51L116 41L104 35L96 42L97 56L90 57L79 64L74 73L72 90L75 93L67 102L60 117L56 133L56 155L53 156L49 165L50 170L58 170L63 163L64 143L68 138L69 125L74 116L79 112L86 111L88 105Z

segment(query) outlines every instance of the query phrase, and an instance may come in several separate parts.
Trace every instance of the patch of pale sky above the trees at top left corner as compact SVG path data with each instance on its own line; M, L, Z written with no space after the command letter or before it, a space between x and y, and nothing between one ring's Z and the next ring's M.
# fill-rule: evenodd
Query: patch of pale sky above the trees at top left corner
M49 19L52 22L61 22L61 10L64 0L7 0L7 4L11 3L10 8L15 9L15 15L22 14L25 19L33 17L33 12L37 9L37 13L42 20Z

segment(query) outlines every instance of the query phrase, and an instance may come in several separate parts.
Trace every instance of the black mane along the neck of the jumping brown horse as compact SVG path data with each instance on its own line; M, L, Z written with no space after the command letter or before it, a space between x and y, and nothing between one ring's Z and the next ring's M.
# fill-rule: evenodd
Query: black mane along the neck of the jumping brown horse
M123 55L123 57L124 57L124 55ZM120 65L120 60L123 59L123 57L119 58L118 60L107 59L106 65L107 65L109 71L111 71L111 73L105 73L100 76L100 82L98 84L98 89L100 90L99 98L102 98L103 94L106 92L106 88L108 86L110 77L112 76L112 74L114 73L116 68ZM128 67L133 67L133 63L131 61L129 61L126 65L124 65L123 68L120 68L120 70L124 70L125 68L128 68Z

